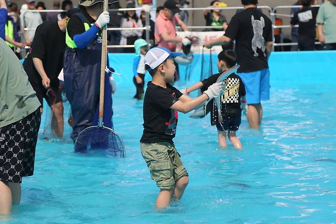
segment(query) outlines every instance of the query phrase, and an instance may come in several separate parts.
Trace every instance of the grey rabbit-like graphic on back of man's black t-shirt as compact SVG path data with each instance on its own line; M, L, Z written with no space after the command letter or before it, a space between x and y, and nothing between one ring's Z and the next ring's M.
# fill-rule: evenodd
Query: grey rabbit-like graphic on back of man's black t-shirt
M252 38L252 50L254 51L254 57L258 57L259 54L257 53L257 48L260 48L263 52L263 56L266 57L266 45L265 39L262 36L263 30L262 28L265 27L265 20L263 17L260 17L260 20L254 19L252 15L252 27L253 27L253 38Z

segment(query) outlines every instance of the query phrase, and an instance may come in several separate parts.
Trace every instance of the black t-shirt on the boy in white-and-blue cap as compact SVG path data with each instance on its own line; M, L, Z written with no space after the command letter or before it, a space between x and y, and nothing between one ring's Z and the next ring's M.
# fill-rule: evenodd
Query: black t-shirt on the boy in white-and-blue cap
M143 134L140 142L173 143L178 115L170 107L178 101L182 93L167 83L167 88L148 82L143 99Z

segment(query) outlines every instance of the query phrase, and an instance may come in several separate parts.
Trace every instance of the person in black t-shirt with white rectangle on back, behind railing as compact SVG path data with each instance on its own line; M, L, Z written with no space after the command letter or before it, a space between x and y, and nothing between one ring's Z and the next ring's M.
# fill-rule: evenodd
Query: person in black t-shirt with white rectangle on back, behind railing
M311 8L311 0L301 1L302 9L294 13L292 27L299 24L298 44L300 51L314 51L316 37L316 16L319 8Z

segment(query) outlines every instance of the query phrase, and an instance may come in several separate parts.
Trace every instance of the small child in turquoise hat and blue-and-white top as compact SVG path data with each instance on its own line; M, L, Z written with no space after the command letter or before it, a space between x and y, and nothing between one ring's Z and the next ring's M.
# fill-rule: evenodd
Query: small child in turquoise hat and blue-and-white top
M148 42L144 39L137 39L134 42L135 55L133 62L133 83L136 87L136 94L133 98L141 100L143 86L145 85L145 55L148 50Z

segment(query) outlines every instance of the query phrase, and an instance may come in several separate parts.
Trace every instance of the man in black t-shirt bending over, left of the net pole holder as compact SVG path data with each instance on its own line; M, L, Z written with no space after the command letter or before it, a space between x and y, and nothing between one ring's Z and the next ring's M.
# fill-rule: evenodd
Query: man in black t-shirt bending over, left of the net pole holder
M23 62L23 68L41 105L45 98L52 109L51 128L58 138L63 137L63 103L58 75L63 68L69 13L61 20L46 21L37 27L30 53Z

